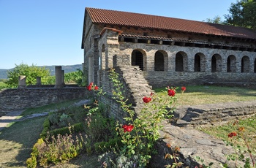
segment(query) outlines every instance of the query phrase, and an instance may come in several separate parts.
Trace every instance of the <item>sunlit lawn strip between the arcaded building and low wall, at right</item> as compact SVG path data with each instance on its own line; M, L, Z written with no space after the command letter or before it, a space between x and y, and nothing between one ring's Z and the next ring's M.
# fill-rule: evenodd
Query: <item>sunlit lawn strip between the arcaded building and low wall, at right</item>
M256 90L252 89L205 85L187 86L186 88L187 90L184 93L181 93L181 88L177 89L176 97L178 99L178 105L256 100ZM165 88L157 88L155 91L162 96L167 96L161 92L165 91Z

